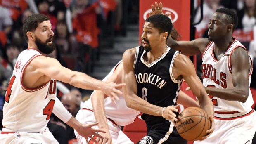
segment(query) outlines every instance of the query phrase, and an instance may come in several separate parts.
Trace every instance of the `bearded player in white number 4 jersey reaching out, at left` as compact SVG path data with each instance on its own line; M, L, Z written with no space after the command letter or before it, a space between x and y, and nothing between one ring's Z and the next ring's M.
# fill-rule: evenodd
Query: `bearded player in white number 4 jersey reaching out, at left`
M49 18L43 14L32 14L24 21L23 33L28 41L28 49L21 52L17 59L12 78L7 87L3 108L3 129L1 144L58 144L46 127L53 112L79 135L90 137L96 132L92 128L98 123L83 125L79 123L56 99L56 80L83 89L103 90L113 97L122 94L116 85L95 80L62 67L56 59L45 57L54 49Z

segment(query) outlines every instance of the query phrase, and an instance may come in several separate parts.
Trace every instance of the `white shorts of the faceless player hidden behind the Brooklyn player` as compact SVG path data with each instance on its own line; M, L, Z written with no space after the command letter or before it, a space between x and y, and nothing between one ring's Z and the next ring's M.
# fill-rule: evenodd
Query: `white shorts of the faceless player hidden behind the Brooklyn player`
M76 115L76 119L82 124L95 123L94 113L90 110L81 109L78 111ZM121 131L121 127L111 122L111 120L107 119L107 123L109 125L109 132L112 137L113 144L133 144L133 142ZM99 128L97 125L94 128ZM84 137L79 135L76 130L76 138L81 144L87 144Z

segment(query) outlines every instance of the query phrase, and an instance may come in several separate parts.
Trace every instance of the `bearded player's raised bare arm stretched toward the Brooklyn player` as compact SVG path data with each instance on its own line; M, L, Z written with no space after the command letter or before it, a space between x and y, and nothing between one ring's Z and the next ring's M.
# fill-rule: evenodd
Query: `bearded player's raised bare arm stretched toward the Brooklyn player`
M71 71L68 68L61 66L59 61L53 58L39 56L31 61L31 66L35 69L36 73L46 75L55 80L69 83L78 88L88 90L102 90L105 94L111 97L117 97L116 93L122 94L121 89L125 84L116 85L113 82L106 83L96 80L85 73Z

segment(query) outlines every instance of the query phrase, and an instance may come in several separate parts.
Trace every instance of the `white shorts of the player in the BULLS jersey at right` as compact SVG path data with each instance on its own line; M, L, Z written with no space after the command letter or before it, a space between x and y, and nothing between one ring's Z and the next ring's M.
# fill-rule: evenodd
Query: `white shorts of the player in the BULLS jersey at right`
M194 144L251 144L256 131L256 112L234 120L214 119L215 130L207 139Z

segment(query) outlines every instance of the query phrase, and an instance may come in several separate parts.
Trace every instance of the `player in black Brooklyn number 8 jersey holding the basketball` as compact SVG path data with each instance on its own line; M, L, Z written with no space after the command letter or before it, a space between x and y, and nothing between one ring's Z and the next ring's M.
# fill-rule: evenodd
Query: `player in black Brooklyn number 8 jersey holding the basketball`
M122 82L126 105L142 112L147 124L147 136L138 144L186 144L175 126L178 115L177 96L183 78L199 99L199 104L211 120L214 130L213 104L207 96L190 59L171 49L166 40L172 30L171 20L162 14L146 19L142 46L123 54Z

